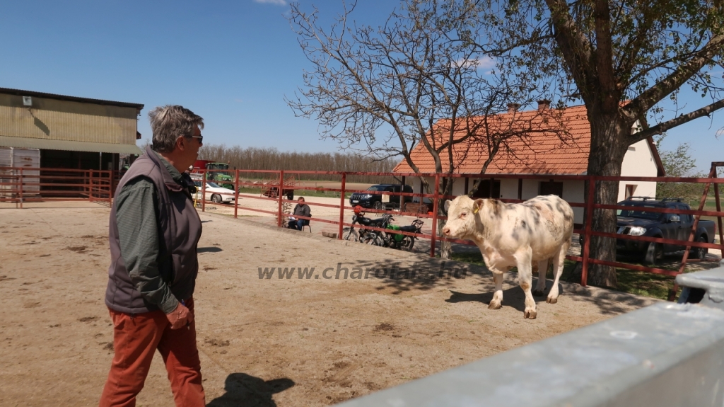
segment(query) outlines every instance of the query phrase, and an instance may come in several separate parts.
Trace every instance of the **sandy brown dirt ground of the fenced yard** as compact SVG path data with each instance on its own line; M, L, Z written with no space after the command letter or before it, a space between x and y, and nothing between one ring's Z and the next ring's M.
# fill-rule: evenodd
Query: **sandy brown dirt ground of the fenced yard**
M211 212L195 293L209 406L327 406L652 302L564 284L557 304L536 298L538 318L523 319L514 274L489 310L484 269L448 261L438 278L423 254ZM112 357L108 216L87 203L0 209L0 406L97 405ZM260 267L315 269L260 279ZM343 278L354 267L363 278ZM138 406L173 406L158 356Z

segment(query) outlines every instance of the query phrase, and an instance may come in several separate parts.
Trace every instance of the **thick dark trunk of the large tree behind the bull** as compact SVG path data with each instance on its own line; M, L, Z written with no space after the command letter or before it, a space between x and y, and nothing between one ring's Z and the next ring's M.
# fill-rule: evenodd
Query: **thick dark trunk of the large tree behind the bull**
M598 116L598 117L595 117ZM628 148L626 140L631 126L618 118L617 114L589 114L591 122L591 151L588 175L618 177L621 175L623 156ZM618 201L618 181L596 181L594 204L615 205ZM588 190L586 190L586 202ZM616 212L613 209L594 209L592 230L597 232L616 231ZM586 214L586 217L588 214ZM616 240L593 236L589 251L591 259L615 261ZM592 285L616 287L615 267L590 264L588 282Z

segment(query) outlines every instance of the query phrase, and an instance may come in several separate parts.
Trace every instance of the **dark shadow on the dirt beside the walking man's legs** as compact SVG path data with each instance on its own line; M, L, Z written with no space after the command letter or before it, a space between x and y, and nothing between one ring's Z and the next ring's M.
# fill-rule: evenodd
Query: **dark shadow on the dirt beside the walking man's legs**
M295 382L287 378L264 381L245 373L232 373L224 383L227 393L214 398L206 407L276 407L271 396L293 385Z

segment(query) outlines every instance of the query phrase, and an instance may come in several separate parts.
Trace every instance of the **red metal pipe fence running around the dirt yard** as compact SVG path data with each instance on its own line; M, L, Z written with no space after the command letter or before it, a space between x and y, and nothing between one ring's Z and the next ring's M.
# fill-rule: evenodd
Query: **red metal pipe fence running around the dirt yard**
M716 177L716 167L717 166L724 166L724 163L712 163L712 174L710 174L711 177L709 178L678 178L678 177L595 177L595 176L589 176L589 175L452 175L453 178L461 178L461 177L468 177L471 179L480 178L480 179L491 179L494 178L495 180L502 180L502 179L517 179L517 180L542 180L542 181L548 181L552 178L557 181L565 181L565 180L582 180L586 181L586 194L588 196L587 202L569 202L569 204L573 207L578 208L584 208L585 209L585 216L584 216L584 224L582 229L576 229L574 232L578 233L579 235L583 235L584 238L584 244L581 248L581 256L566 256L567 259L573 260L573 261L580 261L582 264L582 275L581 275L581 285L586 285L587 280L587 274L590 264L604 264L607 266L613 266L613 267L620 267L625 269L633 269L633 270L639 270L642 272L652 272L657 274L666 274L666 275L676 275L681 272L683 272L683 267L685 264L691 259L688 259L688 253L689 248L695 247L695 248L714 248L714 249L720 249L724 251L724 237L723 237L723 229L722 229L722 217L724 217L724 212L721 210L720 206L720 200L719 200L719 188L718 184L723 183L724 179L717 178ZM201 170L201 176L206 178L206 174L208 172L216 172L214 170ZM227 172L230 172L227 170ZM242 181L240 180L239 174L240 172L245 174L258 174L261 178L266 177L268 182L266 182L263 185L260 185L258 182L252 182L252 181ZM415 234L411 232L402 232L402 231L395 231L395 233L401 233L403 235L413 235L417 238L425 238L431 240L430 245L430 256L435 256L435 250L436 250L436 243L437 241L447 241L451 243L460 243L465 245L471 245L473 246L473 243L469 240L457 240L457 239L448 239L448 238L442 238L441 236L438 236L437 234L437 221L438 220L445 220L447 219L445 216L438 214L438 202L440 199L452 199L455 198L454 196L443 196L439 193L438 185L440 184L440 178L443 177L443 175L439 174L415 174L415 173L391 173L391 172L379 172L379 173L371 173L371 172L320 172L320 171L267 171L267 170L235 170L232 172L235 179L235 191L233 193L226 193L225 195L228 196L234 196L234 217L238 216L238 211L240 209L245 211L253 211L263 214L271 214L277 217L277 225L279 227L282 226L284 215L282 213L282 206L285 203L295 204L296 202L293 200L285 199L285 196L281 193L277 193L276 196L253 196L249 194L245 194L244 198L252 198L252 199L259 199L264 201L270 201L274 202L274 204L277 206L276 210L269 211L265 209L258 209L258 208L252 208L248 206L242 206L239 204L239 189L240 188L266 188L266 190L269 190L269 187L276 187L278 190L283 190L287 187L287 185L284 185L281 180L285 180L285 177L289 177L289 175L295 175L298 179L303 178L304 175L328 175L328 176L335 176L339 177L340 180L340 188L318 188L318 187L303 187L300 185L295 185L295 190L310 190L310 191L327 191L327 192L334 192L334 193L340 193L340 202L339 204L322 204L322 203L314 203L314 202L307 202L310 206L324 206L328 208L339 208L340 209L340 215L339 219L330 220L330 219L319 219L319 218L308 218L308 217L300 217L300 219L310 219L314 222L324 222L328 224L338 225L338 231L337 231L337 238L342 239L342 229L344 227L353 227L354 225L345 222L345 210L352 210L352 206L348 206L347 204L347 194L348 193L363 193L366 192L365 190L354 190L347 188L346 180L349 175L376 175L376 176L384 176L384 177L396 177L397 179L404 180L405 178L418 178L418 177L429 177L431 179L434 179L433 182L433 193L395 193L390 192L386 193L390 196L404 196L404 197L411 197L411 198L418 198L418 201L424 202L424 198L432 199L432 213L416 213L416 212L405 212L403 211L403 207L400 207L398 210L393 211L387 211L387 210L376 210L376 209L366 209L366 211L371 213L377 213L377 214L395 214L395 216L410 216L410 217L418 217L418 218L426 218L426 219L432 219L432 231L428 233L420 233ZM28 169L28 168L3 168L0 169L0 203L14 203L16 207L22 208L23 203L27 202L33 202L33 201L71 201L71 200L80 200L80 201L102 201L111 203L113 192L115 190L115 186L117 185L117 181L120 177L119 172L113 172L113 171L98 171L98 170L82 170L82 169ZM447 177L447 175L445 175ZM644 236L631 236L631 235L622 235L618 233L612 233L612 232L601 232L592 230L592 217L588 216L588 214L591 214L594 209L624 209L625 206L618 206L618 205L601 205L601 204L593 204L593 197L594 197L594 188L596 188L597 182L599 181L633 181L633 182L695 182L695 183L705 183L706 185L706 192L704 193L704 196L702 196L702 201L699 205L699 209L692 209L692 210L683 210L683 209L663 209L663 208L647 208L647 211L652 212L661 212L661 213L675 213L675 214L691 214L696 219L694 222L694 227L692 227L691 232L689 233L689 240L675 240L675 239L664 239L664 238L649 238ZM714 185L715 190L715 203L716 203L716 211L704 211L704 202L707 197L707 193L709 190L709 185ZM279 187L282 188L279 188ZM201 186L200 195L202 197L206 197L206 182L202 183ZM508 203L517 203L522 202L518 199L500 199L501 201L508 202ZM201 210L206 210L206 199L201 199ZM694 242L694 232L696 228L696 223L699 221L699 217L701 216L709 216L709 217L717 217L718 219L718 235L719 235L719 243L702 243L702 242ZM381 229L379 227L365 227L365 229L368 230L378 230L378 231L385 231L384 229ZM686 250L684 251L683 259L681 261L681 267L678 270L666 270L666 269L659 269L654 267L644 267L639 266L636 264L626 264L618 261L605 261L601 259L592 259L590 254L590 236L602 236L605 238L614 238L614 239L626 239L626 240L636 240L636 241L644 241L644 242L653 242L653 243L668 243L668 244L678 244L680 246L686 246Z

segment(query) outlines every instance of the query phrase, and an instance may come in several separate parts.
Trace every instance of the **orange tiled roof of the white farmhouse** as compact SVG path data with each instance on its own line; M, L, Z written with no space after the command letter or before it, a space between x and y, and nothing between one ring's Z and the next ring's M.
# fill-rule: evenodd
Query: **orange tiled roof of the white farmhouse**
M509 140L505 147L501 146L489 164L487 174L579 175L586 172L591 146L591 127L586 117L586 106L571 106L563 110L547 109L547 112L550 114L536 109L475 118L479 121L487 119L492 131L505 126L521 127L522 123L525 123L526 129L534 130L522 138ZM547 117L553 119L546 119ZM440 120L435 126L439 130L449 122L449 119ZM552 130L554 126L563 129L565 134L557 135ZM461 137L463 132L456 131L455 135ZM439 142L443 136L436 132L436 137ZM468 139L452 148L452 161L456 167L455 173L458 174L479 173L487 158L487 142L481 139ZM435 172L434 159L422 143L413 148L411 159L420 172ZM447 150L440 153L440 159L445 172L450 164ZM404 159L397 164L394 171L413 172Z

